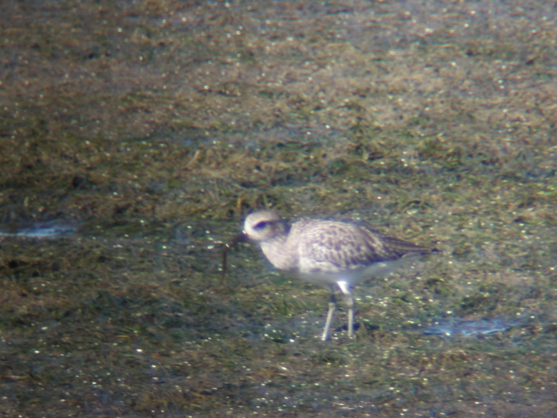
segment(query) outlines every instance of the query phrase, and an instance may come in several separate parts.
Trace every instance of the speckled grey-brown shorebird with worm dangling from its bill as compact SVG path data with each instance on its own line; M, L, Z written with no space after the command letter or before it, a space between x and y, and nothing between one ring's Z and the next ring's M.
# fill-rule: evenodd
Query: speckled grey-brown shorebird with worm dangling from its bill
M412 256L437 249L421 247L350 222L327 219L301 219L289 225L273 210L249 214L240 235L223 251L223 276L226 250L236 242L257 242L263 254L279 270L300 279L328 286L331 290L329 311L321 339L327 340L336 310L335 286L346 298L348 336L354 335L354 299L351 288L363 279L383 277Z

